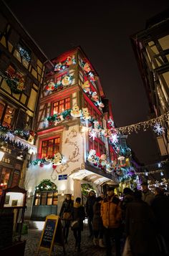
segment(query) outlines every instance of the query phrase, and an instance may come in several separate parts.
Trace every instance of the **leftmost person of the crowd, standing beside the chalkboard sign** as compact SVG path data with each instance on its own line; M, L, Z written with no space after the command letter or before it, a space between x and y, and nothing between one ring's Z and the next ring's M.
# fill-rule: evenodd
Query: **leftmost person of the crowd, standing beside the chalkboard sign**
M67 238L69 235L69 227L72 220L73 201L71 200L71 194L66 194L66 199L62 203L62 207L59 213L59 217L62 219L63 237L64 242L67 244Z

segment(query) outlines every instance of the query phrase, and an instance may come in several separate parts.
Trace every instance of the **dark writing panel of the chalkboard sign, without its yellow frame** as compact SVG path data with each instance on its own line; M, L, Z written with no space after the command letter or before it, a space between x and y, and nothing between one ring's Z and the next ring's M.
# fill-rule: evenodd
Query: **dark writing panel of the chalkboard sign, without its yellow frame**
M57 224L57 219L47 219L47 222L44 226L44 234L42 237L40 247L50 248L52 243L52 238L54 236L54 229Z

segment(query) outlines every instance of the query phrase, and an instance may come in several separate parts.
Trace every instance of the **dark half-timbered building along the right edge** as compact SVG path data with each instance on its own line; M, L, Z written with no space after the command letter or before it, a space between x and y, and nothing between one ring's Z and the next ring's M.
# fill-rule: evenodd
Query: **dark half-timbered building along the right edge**
M150 118L169 110L169 9L149 19L145 30L131 36L132 47L143 78L150 106ZM168 158L169 120L165 133L157 136L161 159Z

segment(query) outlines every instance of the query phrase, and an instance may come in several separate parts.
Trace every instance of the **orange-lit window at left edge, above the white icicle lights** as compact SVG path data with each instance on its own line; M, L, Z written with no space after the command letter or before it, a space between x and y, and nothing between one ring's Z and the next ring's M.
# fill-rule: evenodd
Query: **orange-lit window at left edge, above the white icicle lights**
M0 120L2 125L12 128L14 123L14 113L15 109L11 105L0 100Z

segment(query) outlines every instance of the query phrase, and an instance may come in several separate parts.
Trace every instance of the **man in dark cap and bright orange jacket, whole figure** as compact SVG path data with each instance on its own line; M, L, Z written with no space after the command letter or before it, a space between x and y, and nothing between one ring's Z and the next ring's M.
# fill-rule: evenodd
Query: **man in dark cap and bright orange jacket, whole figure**
M122 210L120 207L120 199L115 196L115 188L110 186L107 188L107 197L101 203L101 217L104 226L106 255L112 255L111 238L115 239L116 256L120 256L120 224L122 218Z

